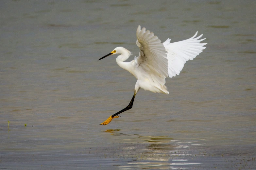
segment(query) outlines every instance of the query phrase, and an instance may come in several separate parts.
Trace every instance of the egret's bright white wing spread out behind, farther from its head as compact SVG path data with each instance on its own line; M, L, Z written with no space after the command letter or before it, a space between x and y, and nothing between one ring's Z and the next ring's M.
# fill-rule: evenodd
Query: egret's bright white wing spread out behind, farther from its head
M167 51L168 75L170 78L179 75L186 61L193 60L203 49L205 49L203 46L207 43L200 43L205 40L205 38L199 39L203 35L199 35L198 37L196 37L196 35L197 31L194 36L183 41L170 43L170 39L168 38L163 42Z

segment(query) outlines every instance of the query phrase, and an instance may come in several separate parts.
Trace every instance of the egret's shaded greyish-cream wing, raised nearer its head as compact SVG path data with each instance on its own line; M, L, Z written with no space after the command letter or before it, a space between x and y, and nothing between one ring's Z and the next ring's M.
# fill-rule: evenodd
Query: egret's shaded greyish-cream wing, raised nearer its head
M165 78L168 76L168 60L166 50L161 43L161 40L150 33L146 28L139 25L137 28L137 41L136 44L140 48L139 57L136 58L137 63L143 67L149 74L155 75L158 78ZM159 81L159 80L158 80Z

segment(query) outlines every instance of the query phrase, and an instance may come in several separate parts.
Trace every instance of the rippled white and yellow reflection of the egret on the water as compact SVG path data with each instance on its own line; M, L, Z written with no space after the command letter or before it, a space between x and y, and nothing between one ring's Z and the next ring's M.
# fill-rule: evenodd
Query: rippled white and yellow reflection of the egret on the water
M191 156L188 148L194 146L196 141L183 141L183 139L181 141L168 135L143 136L120 131L121 129L104 130L111 135L129 136L128 138L122 137L122 140L127 142L122 150L123 157L130 161L126 165L120 164L119 169L183 169L199 164L186 157Z

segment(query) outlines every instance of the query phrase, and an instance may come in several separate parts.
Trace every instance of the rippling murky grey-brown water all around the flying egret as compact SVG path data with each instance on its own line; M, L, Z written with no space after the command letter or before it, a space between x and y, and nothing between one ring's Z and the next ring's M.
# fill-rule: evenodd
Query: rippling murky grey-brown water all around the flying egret
M0 168L256 168L255 7L1 1ZM99 126L128 105L136 79L116 56L97 60L117 46L138 55L139 24L171 42L198 30L207 48L166 79L169 95L140 90Z

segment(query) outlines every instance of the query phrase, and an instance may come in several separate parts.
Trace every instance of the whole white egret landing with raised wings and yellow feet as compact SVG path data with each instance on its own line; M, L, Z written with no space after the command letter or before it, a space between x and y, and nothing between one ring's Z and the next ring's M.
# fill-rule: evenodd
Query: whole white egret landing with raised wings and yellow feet
M203 46L207 44L200 43L205 38L199 39L202 35L196 37L197 31L191 38L174 43L170 43L171 39L169 38L162 43L154 33L149 30L146 31L145 28L141 29L140 25L137 28L136 35L136 44L140 48L140 52L139 56L131 62L124 62L129 58L131 52L123 47L117 47L111 53L99 59L113 54L121 54L117 56L116 63L137 78L134 94L129 105L110 116L100 125L109 124L113 118L119 117L118 114L131 109L135 95L140 88L154 93L169 94L164 85L165 78L179 75L186 61L193 60L205 49Z

